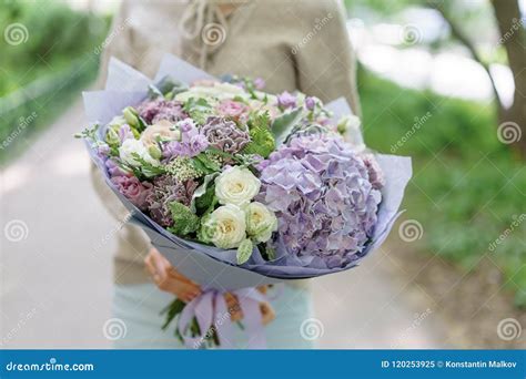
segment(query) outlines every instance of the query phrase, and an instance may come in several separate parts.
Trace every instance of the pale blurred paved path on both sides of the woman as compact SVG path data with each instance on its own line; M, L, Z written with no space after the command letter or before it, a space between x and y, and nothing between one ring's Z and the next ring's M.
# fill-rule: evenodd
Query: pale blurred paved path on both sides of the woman
M0 177L0 344L6 348L104 348L111 317L111 252L95 248L114 223L89 181L89 158L71 136L75 104ZM20 232L20 234L17 234ZM18 240L20 239L20 240ZM443 326L411 278L376 252L347 273L315 280L318 346L442 347ZM0 345L0 346L1 346Z

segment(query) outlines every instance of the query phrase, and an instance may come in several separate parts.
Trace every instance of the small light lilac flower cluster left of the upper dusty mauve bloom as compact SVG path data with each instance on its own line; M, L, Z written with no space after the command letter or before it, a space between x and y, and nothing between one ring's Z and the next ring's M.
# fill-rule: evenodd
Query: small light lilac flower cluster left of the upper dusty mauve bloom
M209 146L206 136L195 126L192 119L184 119L178 123L181 132L181 141L171 141L163 146L163 156L171 158L174 156L193 157L203 152Z

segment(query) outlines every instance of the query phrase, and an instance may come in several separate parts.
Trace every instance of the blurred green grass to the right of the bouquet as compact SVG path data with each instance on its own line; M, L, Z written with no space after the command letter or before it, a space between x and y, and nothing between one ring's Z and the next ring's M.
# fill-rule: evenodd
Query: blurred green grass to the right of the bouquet
M526 170L498 141L492 104L402 89L364 71L358 82L367 144L413 157L404 207L423 226L419 248L465 269L488 257L526 307Z

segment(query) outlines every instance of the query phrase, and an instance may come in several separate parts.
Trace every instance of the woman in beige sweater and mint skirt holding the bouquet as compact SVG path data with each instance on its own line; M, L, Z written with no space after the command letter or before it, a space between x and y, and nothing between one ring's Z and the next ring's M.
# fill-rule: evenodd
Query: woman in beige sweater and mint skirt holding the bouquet
M104 44L100 83L105 81L110 57L152 76L163 53L170 52L213 75L261 78L271 93L300 90L322 101L344 96L360 112L344 10L335 0L124 1ZM124 221L124 207L95 170L93 182L108 208ZM152 249L141 229L127 224L118 240L113 308L128 334L115 346L182 348L173 332L160 329L159 313L173 296L186 303L199 296L199 284ZM312 311L308 285L303 280L284 287L261 307L267 347L311 348L312 340L300 332ZM237 309L231 319L241 319L235 297L225 294L225 298ZM234 338L233 345L243 348L250 336L239 330Z

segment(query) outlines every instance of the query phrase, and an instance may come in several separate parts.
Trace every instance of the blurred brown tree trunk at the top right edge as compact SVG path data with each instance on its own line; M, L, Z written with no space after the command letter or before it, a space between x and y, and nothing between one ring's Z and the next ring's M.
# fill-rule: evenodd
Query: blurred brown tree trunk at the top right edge
M506 49L509 69L515 81L513 105L499 112L502 140L513 141L512 146L518 155L526 158L526 21L522 19L518 0L492 0L492 6L500 32L500 43Z

